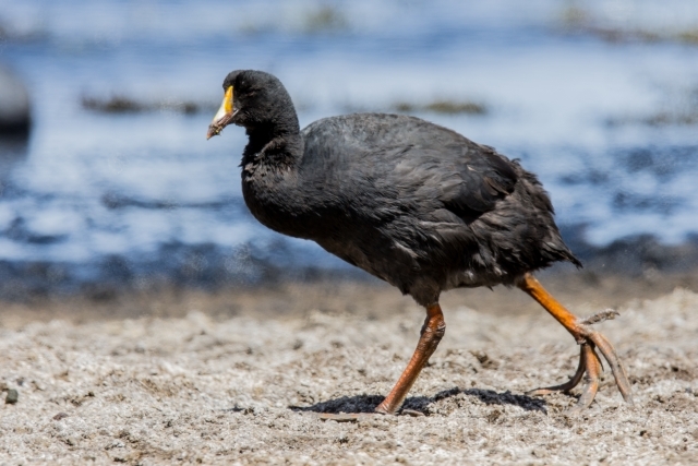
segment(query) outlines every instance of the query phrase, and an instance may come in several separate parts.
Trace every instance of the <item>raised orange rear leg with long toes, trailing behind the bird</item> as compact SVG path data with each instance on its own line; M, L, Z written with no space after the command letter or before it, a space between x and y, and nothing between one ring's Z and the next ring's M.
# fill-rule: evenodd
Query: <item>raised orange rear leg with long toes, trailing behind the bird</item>
M568 392L581 381L581 377L586 372L586 385L575 409L579 410L588 407L591 402L593 402L593 397L599 390L599 377L601 374L602 366L601 360L594 350L594 348L599 348L604 359L609 362L609 366L611 366L615 383L618 386L618 391L623 395L623 398L633 405L630 384L627 375L625 374L625 369L618 360L615 349L603 335L591 330L591 324L606 319L613 319L616 312L603 311L589 319L580 320L557 302L531 274L526 274L518 283L518 287L545 308L545 310L550 312L550 314L575 337L577 343L581 345L579 368L569 382L562 385L533 390L529 392L529 394L545 395L553 391Z

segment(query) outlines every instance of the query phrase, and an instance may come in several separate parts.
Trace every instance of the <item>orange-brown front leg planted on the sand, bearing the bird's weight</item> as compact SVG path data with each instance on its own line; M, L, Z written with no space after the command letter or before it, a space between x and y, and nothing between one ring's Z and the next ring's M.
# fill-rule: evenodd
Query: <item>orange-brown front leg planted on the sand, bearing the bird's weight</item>
M446 323L444 322L444 314L441 312L438 303L428 306L426 319L424 320L424 325L422 326L422 332L412 359L410 359L402 375L400 375L400 379L388 396L375 408L376 413L395 414L400 408L407 396L407 392L410 391L422 368L438 346L438 342L441 342L445 331Z

